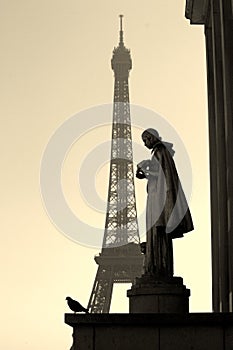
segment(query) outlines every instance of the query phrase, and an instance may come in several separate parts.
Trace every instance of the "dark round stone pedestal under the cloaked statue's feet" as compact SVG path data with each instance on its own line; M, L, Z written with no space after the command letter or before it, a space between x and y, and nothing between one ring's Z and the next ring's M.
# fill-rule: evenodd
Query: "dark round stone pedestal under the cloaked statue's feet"
M127 291L130 313L188 313L190 290L181 277L143 275Z

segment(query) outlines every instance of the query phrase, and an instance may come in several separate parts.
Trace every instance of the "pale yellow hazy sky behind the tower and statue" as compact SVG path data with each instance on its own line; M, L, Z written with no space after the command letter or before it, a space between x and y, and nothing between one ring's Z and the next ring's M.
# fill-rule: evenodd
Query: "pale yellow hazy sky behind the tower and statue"
M68 312L65 297L88 303L97 271L93 257L99 249L74 243L51 222L40 193L40 164L60 125L80 111L112 102L110 60L118 45L120 13L133 61L130 100L163 116L191 161L195 231L175 242L175 274L191 289L190 310L210 311L205 43L203 28L191 26L184 17L185 1L0 0L0 4L1 347L69 349L72 329L63 321ZM110 113L109 123L111 119ZM80 126L83 123L80 118ZM133 137L141 143L139 130ZM77 174L85 157L105 138L110 139L110 131L98 134L94 129L84 135L70 148L62 173L72 211L103 229L104 213L81 199ZM175 140L168 141L177 149ZM178 163L182 175L186 164ZM107 165L95 178L102 200L106 174ZM138 207L143 210L145 183L139 187L136 181L136 186ZM121 285L113 295L112 311L127 312L122 288L127 286Z

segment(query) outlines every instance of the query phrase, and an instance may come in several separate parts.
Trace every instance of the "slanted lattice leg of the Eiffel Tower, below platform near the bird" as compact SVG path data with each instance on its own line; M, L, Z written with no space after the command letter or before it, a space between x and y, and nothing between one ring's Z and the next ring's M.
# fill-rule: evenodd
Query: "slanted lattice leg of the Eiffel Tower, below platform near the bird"
M108 313L113 289L113 270L111 266L99 266L88 303L91 313Z

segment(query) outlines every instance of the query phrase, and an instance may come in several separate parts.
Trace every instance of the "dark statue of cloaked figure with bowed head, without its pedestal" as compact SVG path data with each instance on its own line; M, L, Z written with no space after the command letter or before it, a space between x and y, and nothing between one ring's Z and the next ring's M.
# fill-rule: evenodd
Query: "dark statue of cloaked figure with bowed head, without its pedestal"
M157 278L173 276L172 239L193 230L191 214L173 161L173 145L163 142L158 132L142 133L151 160L137 166L136 176L147 179L147 242L144 271Z

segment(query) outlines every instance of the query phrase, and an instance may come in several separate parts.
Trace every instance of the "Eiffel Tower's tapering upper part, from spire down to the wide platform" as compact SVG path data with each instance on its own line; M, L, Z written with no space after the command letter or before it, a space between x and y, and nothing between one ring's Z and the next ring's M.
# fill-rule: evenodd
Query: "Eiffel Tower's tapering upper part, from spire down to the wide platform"
M139 243L134 188L133 152L129 104L130 51L123 41L120 15L120 41L113 50L111 66L115 76L112 149L108 206L103 239L104 248Z

